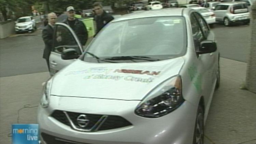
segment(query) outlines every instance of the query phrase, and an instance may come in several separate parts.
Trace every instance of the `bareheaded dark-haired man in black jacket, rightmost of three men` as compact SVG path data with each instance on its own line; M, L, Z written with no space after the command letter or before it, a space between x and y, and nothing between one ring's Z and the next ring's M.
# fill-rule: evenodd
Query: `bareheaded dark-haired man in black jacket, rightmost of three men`
M103 10L103 7L100 2L95 2L93 4L93 8L96 14L95 16L95 21L97 26L96 33L98 33L106 24L108 24L111 20L113 20L114 17Z

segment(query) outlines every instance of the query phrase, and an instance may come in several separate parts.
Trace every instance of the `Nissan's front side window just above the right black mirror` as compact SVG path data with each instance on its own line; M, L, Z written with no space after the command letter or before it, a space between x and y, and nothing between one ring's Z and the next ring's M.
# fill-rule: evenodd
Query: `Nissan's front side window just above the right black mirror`
M192 29L195 48L199 49L200 42L203 41L204 37L203 37L203 32L200 28L200 25L198 24L197 19L193 13L190 15L190 23L191 23L191 29Z

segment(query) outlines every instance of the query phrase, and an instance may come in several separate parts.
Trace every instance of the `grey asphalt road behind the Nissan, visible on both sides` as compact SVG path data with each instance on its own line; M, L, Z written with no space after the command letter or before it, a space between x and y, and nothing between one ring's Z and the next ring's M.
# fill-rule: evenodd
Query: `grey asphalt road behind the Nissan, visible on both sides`
M250 40L250 26L235 25L224 27L216 24L213 28L221 57L247 61ZM27 35L27 36L26 36ZM42 58L44 43L41 30L0 40L0 77L46 72Z

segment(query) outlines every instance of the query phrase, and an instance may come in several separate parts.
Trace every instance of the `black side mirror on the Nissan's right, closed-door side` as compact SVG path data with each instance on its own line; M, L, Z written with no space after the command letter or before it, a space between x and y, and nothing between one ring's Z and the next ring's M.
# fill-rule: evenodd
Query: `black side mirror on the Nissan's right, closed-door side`
M200 44L199 50L196 52L198 55L200 54L208 54L208 53L213 53L217 50L217 45L216 42L210 41L210 40L205 40L202 41Z

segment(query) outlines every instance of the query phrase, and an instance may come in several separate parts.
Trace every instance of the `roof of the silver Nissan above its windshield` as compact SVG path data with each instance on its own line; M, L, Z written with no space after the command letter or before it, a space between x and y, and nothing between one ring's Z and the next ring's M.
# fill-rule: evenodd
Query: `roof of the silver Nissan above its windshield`
M185 8L167 8L160 10L141 11L136 13L125 14L120 18L112 20L112 22L158 16L183 16Z

